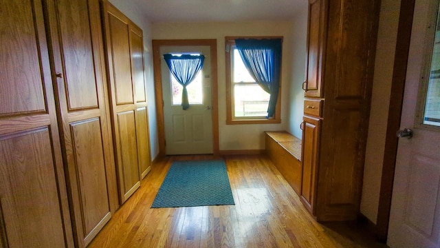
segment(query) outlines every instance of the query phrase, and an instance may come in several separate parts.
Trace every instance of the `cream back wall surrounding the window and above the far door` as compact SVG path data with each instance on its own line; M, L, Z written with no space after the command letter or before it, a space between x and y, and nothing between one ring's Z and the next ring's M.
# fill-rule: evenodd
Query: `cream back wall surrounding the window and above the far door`
M153 23L153 39L217 39L217 74L219 99L220 150L264 149L264 131L287 130L290 103L289 84L292 81L292 23ZM283 36L283 67L281 76L281 124L226 125L225 37Z

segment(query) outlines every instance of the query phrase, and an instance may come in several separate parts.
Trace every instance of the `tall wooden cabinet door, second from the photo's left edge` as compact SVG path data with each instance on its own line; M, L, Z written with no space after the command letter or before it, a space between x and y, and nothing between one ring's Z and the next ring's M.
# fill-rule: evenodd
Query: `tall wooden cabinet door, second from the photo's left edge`
M118 207L98 0L47 1L54 70L79 247Z

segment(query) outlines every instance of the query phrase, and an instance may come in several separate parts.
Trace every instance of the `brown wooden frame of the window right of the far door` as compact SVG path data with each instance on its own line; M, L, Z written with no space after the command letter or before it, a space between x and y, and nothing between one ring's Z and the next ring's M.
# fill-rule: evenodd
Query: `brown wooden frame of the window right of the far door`
M225 37L225 71L226 71L226 124L272 124L281 123L281 78L280 89L278 92L278 99L276 101L276 110L274 117L266 118L266 116L250 116L250 117L236 117L234 116L234 85L232 82L232 48L235 46L235 39L283 39L283 37ZM283 66L283 61L281 61ZM282 75L282 73L281 73ZM249 83L243 83L249 84ZM253 84L253 83L252 83Z

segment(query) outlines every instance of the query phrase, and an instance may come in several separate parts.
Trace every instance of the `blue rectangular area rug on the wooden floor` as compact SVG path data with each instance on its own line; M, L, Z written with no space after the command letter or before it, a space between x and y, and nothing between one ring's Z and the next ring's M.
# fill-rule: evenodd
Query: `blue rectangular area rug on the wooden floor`
M234 205L224 161L174 161L152 208Z

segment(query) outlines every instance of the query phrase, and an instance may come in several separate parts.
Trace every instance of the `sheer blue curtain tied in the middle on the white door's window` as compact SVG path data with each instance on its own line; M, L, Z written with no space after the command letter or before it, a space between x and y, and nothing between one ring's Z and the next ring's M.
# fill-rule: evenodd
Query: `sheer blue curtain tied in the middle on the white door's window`
M175 77L177 82L184 87L181 94L181 106L184 110L190 107L188 103L188 92L186 91L186 86L188 86L197 76L197 73L203 67L203 61L205 56L201 55L173 55L164 54L164 59L168 68L170 68L171 74Z

